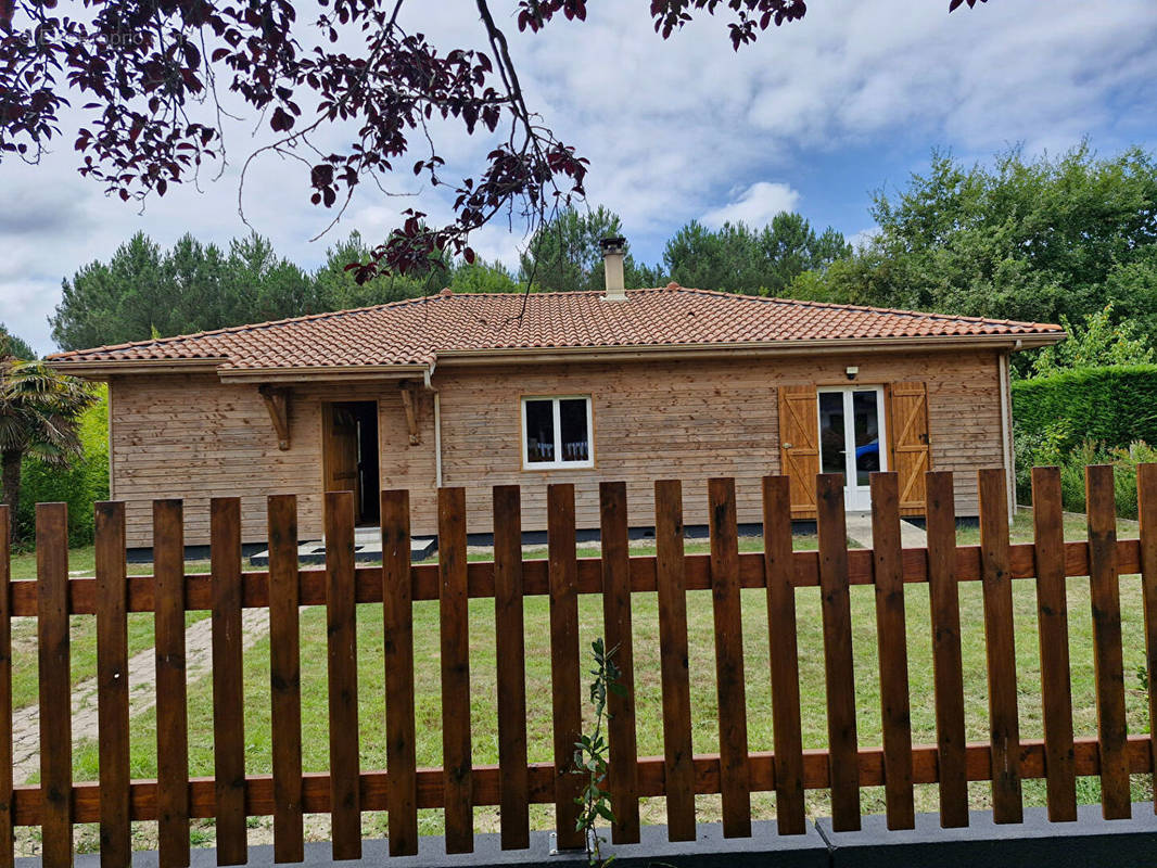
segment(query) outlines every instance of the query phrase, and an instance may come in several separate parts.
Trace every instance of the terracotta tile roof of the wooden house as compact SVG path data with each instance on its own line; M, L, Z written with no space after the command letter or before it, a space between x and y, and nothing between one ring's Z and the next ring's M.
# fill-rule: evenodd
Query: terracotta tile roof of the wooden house
M450 294L50 356L78 363L213 360L222 370L429 365L460 351L742 345L821 339L1055 336L1057 325L767 299L669 286ZM524 309L525 306L525 309Z

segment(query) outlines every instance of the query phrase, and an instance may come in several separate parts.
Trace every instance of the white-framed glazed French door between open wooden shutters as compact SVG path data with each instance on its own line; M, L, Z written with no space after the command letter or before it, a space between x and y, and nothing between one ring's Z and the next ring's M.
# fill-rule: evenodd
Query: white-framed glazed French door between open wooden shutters
M871 509L869 475L886 470L884 389L879 385L832 387L818 390L819 469L843 473L848 512Z

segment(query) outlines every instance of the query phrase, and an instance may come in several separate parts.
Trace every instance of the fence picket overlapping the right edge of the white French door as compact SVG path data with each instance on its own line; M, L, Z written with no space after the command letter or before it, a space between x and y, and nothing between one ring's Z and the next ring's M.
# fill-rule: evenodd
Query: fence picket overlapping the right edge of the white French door
M908 648L900 547L900 491L894 472L871 475L872 567L876 579L876 641L879 648L880 722L887 827L913 829L912 719Z

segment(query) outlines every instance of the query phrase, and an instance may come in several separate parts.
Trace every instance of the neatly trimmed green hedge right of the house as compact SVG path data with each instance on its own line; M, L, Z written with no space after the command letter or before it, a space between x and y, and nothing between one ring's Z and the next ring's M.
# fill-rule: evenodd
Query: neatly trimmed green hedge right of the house
M1071 449L1083 442L1127 448L1157 443L1157 365L1082 368L1012 383L1012 418L1030 436L1049 433Z

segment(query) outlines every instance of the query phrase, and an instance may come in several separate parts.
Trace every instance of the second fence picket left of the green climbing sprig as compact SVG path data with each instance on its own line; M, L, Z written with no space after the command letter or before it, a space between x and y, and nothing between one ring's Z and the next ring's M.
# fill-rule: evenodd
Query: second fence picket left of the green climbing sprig
M494 640L498 656L499 793L502 848L530 846L526 768L526 647L522 596L522 494L494 487Z

